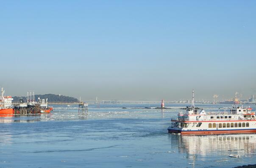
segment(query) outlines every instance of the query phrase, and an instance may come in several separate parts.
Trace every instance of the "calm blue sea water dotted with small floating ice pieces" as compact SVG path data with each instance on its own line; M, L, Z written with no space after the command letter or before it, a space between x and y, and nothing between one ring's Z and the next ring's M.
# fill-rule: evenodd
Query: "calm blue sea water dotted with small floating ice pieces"
M53 105L51 114L1 117L0 168L231 168L256 164L256 134L173 135L167 131L170 119L188 105L156 106L89 105L89 113L79 118L78 105ZM227 105L197 106L217 111ZM230 154L241 157L228 157Z

